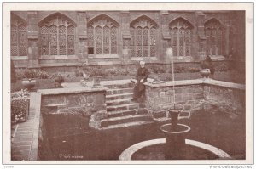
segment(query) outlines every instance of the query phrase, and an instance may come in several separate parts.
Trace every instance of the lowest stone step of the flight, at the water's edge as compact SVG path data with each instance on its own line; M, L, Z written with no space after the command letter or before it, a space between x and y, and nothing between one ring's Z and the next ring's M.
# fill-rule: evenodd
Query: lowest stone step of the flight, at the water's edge
M101 127L108 127L110 125L124 124L135 121L153 121L152 116L146 115L125 115L119 117L112 117L101 121Z

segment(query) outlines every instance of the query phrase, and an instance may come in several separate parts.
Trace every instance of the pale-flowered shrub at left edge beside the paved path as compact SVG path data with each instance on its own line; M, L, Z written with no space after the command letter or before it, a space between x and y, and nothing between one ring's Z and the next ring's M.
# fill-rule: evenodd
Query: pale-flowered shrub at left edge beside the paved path
M29 111L29 93L20 90L11 94L11 121L12 123L26 121Z

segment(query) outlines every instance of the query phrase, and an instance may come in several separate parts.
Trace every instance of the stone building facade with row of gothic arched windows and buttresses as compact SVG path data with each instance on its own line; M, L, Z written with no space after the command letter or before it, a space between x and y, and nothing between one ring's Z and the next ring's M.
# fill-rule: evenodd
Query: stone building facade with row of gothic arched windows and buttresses
M12 11L16 68L245 61L244 11Z

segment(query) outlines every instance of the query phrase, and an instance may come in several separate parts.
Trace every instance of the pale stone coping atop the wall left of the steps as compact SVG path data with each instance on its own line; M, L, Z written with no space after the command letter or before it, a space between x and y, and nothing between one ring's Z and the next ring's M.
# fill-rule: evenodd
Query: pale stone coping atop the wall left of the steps
M66 93L95 93L95 92L105 92L107 87L64 87L64 88L53 88L53 89L41 89L38 90L38 93L42 95L51 95L51 94L66 94Z

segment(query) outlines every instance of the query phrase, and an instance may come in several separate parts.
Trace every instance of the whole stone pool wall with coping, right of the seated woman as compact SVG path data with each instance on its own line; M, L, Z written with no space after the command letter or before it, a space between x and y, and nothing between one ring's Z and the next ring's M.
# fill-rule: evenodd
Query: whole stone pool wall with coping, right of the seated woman
M232 115L245 112L243 85L215 80L188 80L175 84L175 107L191 113L196 110L221 111ZM178 84L179 83L179 84ZM173 83L146 83L146 107L160 112L174 107Z

